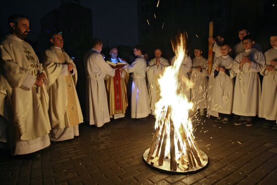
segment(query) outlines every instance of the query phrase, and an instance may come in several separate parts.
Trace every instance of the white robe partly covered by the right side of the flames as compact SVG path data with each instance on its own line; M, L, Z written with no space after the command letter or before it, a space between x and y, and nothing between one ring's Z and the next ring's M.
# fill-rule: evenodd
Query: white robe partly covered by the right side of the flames
M173 66L175 63L175 57L176 56L174 56L171 59L171 62L170 62L171 66ZM188 72L190 71L191 66L192 66L191 58L187 54L185 54L179 69L178 82L180 84L180 87L177 93L184 93L188 101L190 101L190 86L188 85L189 84Z

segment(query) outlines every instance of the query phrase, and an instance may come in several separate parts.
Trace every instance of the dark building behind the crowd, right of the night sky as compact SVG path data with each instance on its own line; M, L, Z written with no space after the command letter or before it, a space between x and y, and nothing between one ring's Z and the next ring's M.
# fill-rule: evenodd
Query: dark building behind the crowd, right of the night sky
M159 2L159 6L157 7ZM153 57L153 50L161 47L165 57L174 53L170 39L186 32L187 51L203 49L207 57L209 22L214 22L214 36L223 34L231 44L239 42L238 29L248 28L256 36L263 51L268 49L270 31L277 27L277 4L274 0L138 0L138 28L140 43Z

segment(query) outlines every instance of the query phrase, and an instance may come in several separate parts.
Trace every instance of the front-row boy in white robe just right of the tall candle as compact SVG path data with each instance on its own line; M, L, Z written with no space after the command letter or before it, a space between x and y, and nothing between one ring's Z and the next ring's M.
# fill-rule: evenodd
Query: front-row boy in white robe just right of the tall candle
M212 94L212 110L219 112L216 122L229 124L232 113L235 73L232 71L233 58L229 56L231 48L228 44L221 46L222 56L218 57L213 65L214 86Z

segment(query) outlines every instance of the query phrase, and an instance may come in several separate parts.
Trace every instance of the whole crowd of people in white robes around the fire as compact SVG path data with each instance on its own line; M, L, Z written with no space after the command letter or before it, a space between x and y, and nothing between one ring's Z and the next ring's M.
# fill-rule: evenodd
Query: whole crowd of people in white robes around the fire
M63 50L61 34L51 34L52 46L39 61L24 41L30 31L28 18L10 16L9 25L10 34L0 45L0 142L9 143L12 155L35 159L40 156L36 151L49 146L50 141L79 135L83 114L76 91L78 73ZM216 122L228 124L234 113L240 116L236 126L250 127L258 115L266 119L263 127L277 130L277 34L270 36L272 48L264 54L246 29L239 30L239 38L235 59L229 55L232 48L223 37L208 38L214 44L212 72L207 70L201 48L194 48L192 60L186 54L179 70L178 93L184 93L201 116L206 110L206 114L217 117ZM109 63L101 55L102 46L101 40L93 40L92 49L84 56L89 124L102 127L110 118L122 118L128 105L135 120L154 115L160 99L159 76L174 64L175 57L169 62L157 48L147 64L142 46L136 45L136 59L131 64L117 57L115 47L110 50ZM263 76L262 84L258 73ZM194 85L188 86L184 79Z

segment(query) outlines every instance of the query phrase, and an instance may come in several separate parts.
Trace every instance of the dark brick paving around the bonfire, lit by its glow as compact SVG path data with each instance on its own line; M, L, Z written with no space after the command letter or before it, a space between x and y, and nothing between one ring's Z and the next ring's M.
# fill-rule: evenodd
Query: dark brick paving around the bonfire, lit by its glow
M0 184L277 184L277 131L262 119L247 128L202 118L195 140L209 165L193 174L172 175L146 166L153 117L111 121L102 128L80 125L80 136L51 143L41 158L20 160L1 150Z

